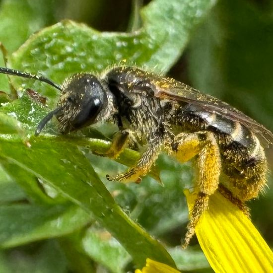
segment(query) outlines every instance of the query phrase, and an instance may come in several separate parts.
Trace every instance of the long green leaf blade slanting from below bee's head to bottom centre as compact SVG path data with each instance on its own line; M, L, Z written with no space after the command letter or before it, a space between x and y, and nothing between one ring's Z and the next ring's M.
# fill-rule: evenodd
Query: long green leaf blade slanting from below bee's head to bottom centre
M48 182L70 201L92 213L122 243L137 265L143 266L150 257L174 266L162 245L115 204L77 146L62 137L50 141L36 137L31 138L30 143L28 148L20 141L11 143L0 139L1 156Z

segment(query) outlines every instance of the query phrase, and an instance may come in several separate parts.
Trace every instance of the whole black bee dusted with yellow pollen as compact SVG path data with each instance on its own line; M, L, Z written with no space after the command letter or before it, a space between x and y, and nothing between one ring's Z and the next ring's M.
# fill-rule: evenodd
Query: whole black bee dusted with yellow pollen
M144 147L138 162L110 181L139 183L162 151L180 162L194 159L198 197L191 211L184 247L218 191L249 215L245 202L256 198L267 183L264 148L273 134L239 110L173 78L135 67L115 67L100 77L78 73L59 86L51 80L8 68L0 73L35 78L61 91L57 108L37 126L38 136L56 117L60 133L96 123L114 123L107 156L118 157L129 144ZM132 144L133 143L133 144Z

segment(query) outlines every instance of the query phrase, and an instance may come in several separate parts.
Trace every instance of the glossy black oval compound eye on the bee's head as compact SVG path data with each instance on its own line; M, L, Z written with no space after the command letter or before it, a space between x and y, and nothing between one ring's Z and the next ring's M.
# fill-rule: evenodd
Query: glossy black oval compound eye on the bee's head
M99 114L102 106L103 103L99 98L94 98L87 104L83 105L81 111L77 114L73 121L73 128L78 129L92 124Z

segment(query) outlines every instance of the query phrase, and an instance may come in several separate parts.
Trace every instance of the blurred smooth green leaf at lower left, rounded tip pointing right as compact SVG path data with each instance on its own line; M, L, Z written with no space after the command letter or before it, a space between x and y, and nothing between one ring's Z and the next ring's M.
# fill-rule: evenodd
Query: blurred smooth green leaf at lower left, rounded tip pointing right
M63 236L82 228L90 216L75 205L0 205L0 247Z

